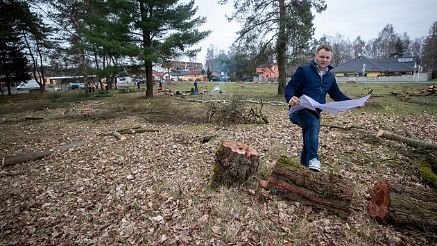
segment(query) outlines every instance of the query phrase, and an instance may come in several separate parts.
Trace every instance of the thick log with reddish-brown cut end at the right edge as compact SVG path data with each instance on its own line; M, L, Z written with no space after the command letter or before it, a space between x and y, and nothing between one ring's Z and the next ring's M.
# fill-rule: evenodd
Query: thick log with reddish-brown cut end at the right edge
M372 188L368 214L397 227L437 233L437 192L379 181Z

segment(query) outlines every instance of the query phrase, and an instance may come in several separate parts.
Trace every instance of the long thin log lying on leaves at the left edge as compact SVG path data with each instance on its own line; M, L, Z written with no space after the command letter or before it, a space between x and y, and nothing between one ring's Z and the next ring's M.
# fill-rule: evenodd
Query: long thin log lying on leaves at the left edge
M74 142L72 144L62 145L59 147L55 147L53 149L44 149L42 151L25 153L25 154L20 154L17 156L5 156L5 157L3 157L3 161L1 162L1 165L3 165L3 167L8 167L8 166L15 165L17 163L22 163L25 161L33 161L33 160L43 158L44 156L49 156L49 154L53 154L54 151L67 150L67 149L71 149L74 147L83 146L83 145L87 145L87 144L89 144L89 141Z

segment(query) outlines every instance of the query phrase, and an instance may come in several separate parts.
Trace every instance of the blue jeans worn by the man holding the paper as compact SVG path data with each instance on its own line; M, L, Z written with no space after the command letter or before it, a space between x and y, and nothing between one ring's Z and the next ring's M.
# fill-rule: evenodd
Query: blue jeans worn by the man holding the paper
M320 113L301 109L290 115L290 121L302 128L303 147L300 164L309 166L309 160L318 159L318 133L320 132Z

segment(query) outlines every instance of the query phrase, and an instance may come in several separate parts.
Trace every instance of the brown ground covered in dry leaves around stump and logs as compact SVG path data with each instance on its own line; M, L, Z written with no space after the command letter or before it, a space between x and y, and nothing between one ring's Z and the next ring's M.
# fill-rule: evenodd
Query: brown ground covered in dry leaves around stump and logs
M352 213L341 219L327 211L277 197L266 199L259 179L280 155L298 161L300 129L286 106L264 106L270 124L204 124L196 103L145 99L143 92L66 107L7 112L0 124L3 156L82 140L91 143L40 160L0 169L1 245L430 245L435 235L378 224L366 215L366 194L386 179L424 186L418 161L429 154L361 131L324 127L320 156L324 171L339 172L357 188ZM117 102L115 102L117 101ZM3 106L8 104L3 101ZM13 102L11 102L13 103ZM95 104L94 104L95 105ZM371 108L372 106L370 106ZM404 135L408 128L437 142L437 115L404 117L390 108L375 113L323 113L325 124L359 124ZM85 112L97 120L86 119ZM26 115L45 120L24 121ZM155 133L109 136L140 125ZM203 136L216 135L203 143ZM255 148L259 173L241 188L209 188L214 152L225 139Z

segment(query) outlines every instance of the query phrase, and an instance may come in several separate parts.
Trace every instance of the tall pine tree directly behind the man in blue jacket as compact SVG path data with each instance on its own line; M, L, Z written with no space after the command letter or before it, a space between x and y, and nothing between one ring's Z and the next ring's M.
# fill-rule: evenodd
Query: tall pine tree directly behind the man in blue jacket
M230 0L220 0L221 4ZM261 44L259 54L275 56L279 69L277 94L284 95L287 56L299 56L309 47L314 33L311 8L320 13L326 9L325 0L233 0L234 13L229 21L243 22L237 45L249 47ZM274 49L271 49L274 47ZM268 51L273 51L273 54Z

